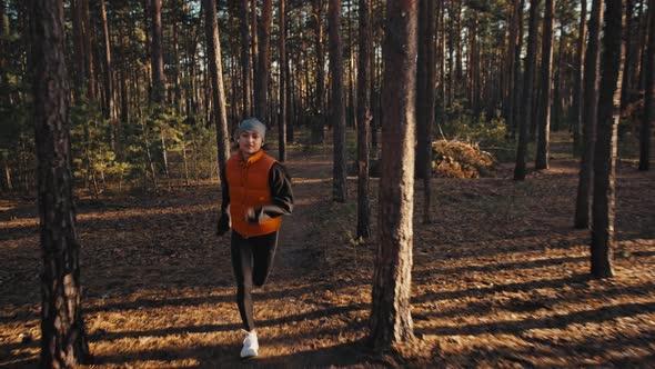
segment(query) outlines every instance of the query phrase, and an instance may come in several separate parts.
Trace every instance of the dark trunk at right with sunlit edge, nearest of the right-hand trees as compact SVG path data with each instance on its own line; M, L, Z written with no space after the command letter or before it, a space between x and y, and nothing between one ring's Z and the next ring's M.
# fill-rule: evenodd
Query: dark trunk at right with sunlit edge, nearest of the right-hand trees
M614 276L614 207L616 180L616 130L621 109L623 48L622 0L605 0L603 73L598 97L598 134L594 152L594 202L592 221L592 275Z

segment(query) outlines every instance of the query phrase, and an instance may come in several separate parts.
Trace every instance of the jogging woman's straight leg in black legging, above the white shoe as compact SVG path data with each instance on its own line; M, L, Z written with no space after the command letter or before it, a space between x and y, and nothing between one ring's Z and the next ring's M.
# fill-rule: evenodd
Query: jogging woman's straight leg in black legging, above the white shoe
M232 231L232 268L236 279L236 305L245 330L254 329L252 318L252 249L249 240Z

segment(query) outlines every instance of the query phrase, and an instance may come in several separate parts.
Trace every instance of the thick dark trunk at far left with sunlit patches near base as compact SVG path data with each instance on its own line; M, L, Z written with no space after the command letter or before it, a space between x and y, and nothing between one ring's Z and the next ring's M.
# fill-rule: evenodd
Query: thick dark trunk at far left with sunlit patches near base
M89 357L75 233L62 1L30 2L41 255L41 367Z

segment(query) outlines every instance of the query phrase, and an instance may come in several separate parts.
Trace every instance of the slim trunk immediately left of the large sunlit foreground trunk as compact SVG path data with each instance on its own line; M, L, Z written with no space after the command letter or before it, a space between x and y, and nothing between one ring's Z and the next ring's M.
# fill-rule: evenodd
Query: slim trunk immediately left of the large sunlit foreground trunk
M371 157L371 58L373 31L371 0L360 0L360 57L357 59L357 238L371 237L369 163Z

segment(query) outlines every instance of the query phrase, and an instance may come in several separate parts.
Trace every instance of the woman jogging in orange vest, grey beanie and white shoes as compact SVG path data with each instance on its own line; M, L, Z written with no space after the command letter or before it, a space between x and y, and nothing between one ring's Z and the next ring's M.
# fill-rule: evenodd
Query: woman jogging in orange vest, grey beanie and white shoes
M239 151L222 173L221 218L216 233L232 228L232 268L236 278L236 303L245 339L241 357L258 356L259 342L253 320L252 286L266 281L278 246L282 216L291 215L293 193L282 164L262 149L266 127L255 118L239 124Z

